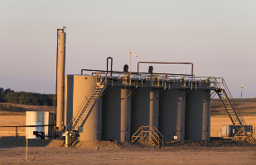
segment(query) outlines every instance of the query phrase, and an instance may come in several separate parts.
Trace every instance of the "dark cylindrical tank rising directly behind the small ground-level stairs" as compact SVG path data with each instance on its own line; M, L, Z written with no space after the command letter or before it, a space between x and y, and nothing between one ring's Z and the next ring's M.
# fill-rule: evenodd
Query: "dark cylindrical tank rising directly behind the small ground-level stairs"
M132 97L131 136L141 126L155 126L158 129L158 88L140 87Z

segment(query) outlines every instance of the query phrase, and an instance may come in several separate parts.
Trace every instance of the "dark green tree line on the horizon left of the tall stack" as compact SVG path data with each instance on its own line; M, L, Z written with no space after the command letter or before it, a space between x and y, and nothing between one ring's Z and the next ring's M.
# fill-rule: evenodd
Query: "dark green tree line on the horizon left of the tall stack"
M0 87L0 102L8 102L32 106L55 106L55 94L41 94L34 92L14 92L12 89Z

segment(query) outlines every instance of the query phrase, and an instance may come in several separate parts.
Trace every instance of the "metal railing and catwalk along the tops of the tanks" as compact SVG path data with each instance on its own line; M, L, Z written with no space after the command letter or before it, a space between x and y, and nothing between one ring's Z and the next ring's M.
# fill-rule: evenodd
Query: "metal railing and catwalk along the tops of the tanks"
M113 86L114 80L123 79L126 82L123 85L133 87L144 87L143 81L152 81L154 87L170 88L170 82L180 82L180 87L191 89L196 88L222 88L225 86L223 78L215 77L191 77L187 75L169 75L169 74L149 74L149 73L112 73L107 76L106 72L95 72L91 75L96 75L99 79L107 79L106 85Z

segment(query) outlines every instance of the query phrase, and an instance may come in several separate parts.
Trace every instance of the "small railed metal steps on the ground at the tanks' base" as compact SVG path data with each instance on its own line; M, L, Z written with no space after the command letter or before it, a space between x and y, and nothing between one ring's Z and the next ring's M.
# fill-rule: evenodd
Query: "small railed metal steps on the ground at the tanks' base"
M154 147L163 148L163 135L155 126L141 126L132 136L132 142L149 141Z

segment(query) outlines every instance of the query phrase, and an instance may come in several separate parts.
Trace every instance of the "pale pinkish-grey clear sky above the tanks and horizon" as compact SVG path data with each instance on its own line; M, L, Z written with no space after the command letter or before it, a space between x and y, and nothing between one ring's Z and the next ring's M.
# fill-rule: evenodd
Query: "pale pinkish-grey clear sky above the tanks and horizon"
M201 77L221 77L233 97L256 97L256 1L0 1L0 87L55 93L56 29L66 26L65 73L114 70L138 61L194 63ZM141 65L147 72L148 64ZM156 73L190 73L153 65Z

